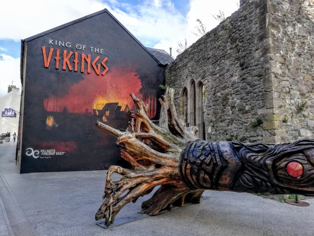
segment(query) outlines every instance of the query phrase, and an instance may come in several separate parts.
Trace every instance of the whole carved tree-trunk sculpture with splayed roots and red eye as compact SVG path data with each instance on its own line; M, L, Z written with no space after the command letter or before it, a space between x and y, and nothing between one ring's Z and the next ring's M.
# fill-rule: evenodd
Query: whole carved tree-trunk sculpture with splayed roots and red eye
M202 141L195 135L197 128L186 127L178 117L173 95L167 88L159 99L159 126L149 120L147 107L134 94L136 110L127 130L96 122L117 137L121 157L132 166L109 167L96 220L105 218L110 225L124 205L159 185L142 203L142 213L154 215L184 201L199 203L206 189L314 195L314 140L278 145ZM111 180L113 172L122 175L120 181Z

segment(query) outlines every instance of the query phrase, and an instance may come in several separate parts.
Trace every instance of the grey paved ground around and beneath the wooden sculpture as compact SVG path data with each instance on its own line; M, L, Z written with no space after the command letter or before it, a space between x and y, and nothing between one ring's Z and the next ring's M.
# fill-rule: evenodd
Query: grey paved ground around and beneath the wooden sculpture
M218 191L205 191L209 198L197 205L103 229L94 217L102 203L106 171L19 174L15 145L0 144L0 236L314 235L314 199L307 200L309 207L298 207ZM140 211L148 198L128 204L117 217Z

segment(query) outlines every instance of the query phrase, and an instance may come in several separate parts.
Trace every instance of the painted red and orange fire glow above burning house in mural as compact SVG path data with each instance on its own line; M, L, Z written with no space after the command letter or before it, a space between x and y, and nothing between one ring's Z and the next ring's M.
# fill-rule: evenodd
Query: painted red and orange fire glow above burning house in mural
M92 112L98 104L118 103L123 111L127 105L130 109L133 108L134 104L129 94L134 93L144 102L147 100L149 117L155 116L156 98L146 98L139 92L142 85L139 76L134 71L113 68L106 74L106 78L93 74L83 76L84 80L72 85L65 96L46 98L43 104L45 110L85 113L86 109Z

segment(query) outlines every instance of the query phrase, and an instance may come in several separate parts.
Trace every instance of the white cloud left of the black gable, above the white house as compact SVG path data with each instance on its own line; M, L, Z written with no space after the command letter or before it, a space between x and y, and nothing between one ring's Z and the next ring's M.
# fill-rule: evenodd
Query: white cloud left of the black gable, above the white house
M17 87L21 91L21 82L20 79L20 72L19 72L19 65L20 59L13 58L6 54L0 54L0 97L8 93L8 85L12 84L12 80L14 81L13 84L17 85Z

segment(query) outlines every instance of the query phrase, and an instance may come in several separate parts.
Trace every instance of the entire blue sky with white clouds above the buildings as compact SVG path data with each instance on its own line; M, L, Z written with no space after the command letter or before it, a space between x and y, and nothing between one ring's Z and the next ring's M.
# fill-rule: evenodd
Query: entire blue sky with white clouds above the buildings
M199 36L200 19L210 31L238 9L239 0L17 0L2 1L0 8L0 97L8 85L21 90L20 48L25 39L107 8L144 46L177 56L178 42L192 45Z

